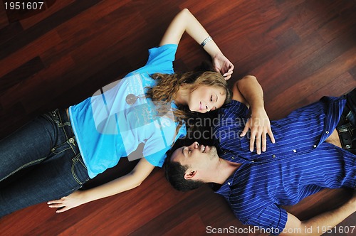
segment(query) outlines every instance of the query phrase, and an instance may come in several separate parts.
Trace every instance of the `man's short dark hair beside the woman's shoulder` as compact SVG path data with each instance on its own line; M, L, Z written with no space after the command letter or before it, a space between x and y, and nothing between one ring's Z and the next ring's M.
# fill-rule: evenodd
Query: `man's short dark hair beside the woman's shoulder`
M171 161L171 157L174 151L167 151L167 158L164 161L164 175L167 181L178 191L191 191L195 188L199 188L204 184L202 181L187 180L184 178L185 171L189 166L182 166L177 161Z

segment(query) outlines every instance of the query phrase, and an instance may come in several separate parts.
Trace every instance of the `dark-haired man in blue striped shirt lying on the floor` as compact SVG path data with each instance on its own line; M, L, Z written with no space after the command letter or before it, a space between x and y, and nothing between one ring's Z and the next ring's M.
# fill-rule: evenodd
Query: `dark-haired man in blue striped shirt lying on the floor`
M189 191L217 183L216 193L226 198L236 218L276 235L311 235L310 229L320 235L320 227L334 227L356 211L356 90L323 97L272 121L276 143L267 140L261 154L249 151L250 140L240 136L248 100L238 83L233 92L234 101L220 109L214 127L217 148L194 142L167 156L166 178L174 188ZM305 221L280 208L324 188L351 188L354 194L340 208Z

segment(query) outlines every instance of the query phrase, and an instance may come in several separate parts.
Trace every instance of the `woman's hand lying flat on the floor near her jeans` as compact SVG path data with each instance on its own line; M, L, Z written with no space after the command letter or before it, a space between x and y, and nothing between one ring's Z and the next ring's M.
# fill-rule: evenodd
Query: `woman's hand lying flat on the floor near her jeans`
M82 205L83 203L85 203L83 201L83 191L75 191L74 193L71 193L70 195L61 199L51 200L47 204L50 208L61 208L56 210L56 213L63 213L66 210L75 208L78 205Z

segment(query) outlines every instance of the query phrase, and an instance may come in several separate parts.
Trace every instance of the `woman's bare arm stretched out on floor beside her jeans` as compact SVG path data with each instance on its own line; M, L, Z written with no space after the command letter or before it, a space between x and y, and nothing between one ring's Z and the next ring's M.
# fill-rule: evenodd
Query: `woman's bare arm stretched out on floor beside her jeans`
M140 159L135 168L125 176L105 183L101 186L90 188L86 191L75 191L70 195L58 200L48 202L50 208L61 208L57 213L63 213L66 210L75 208L78 205L88 203L92 200L98 200L110 195L122 193L137 186L153 171L155 166L149 163L145 158Z

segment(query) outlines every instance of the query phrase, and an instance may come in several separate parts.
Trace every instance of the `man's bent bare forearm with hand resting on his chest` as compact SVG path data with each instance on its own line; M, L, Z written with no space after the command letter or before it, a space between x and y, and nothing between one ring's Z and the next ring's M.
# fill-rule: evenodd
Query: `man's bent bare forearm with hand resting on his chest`
M247 75L235 82L232 91L233 100L242 102L247 107L251 106L251 118L248 119L240 136L245 136L248 129L251 129L250 151L253 151L256 141L256 152L261 154L261 145L262 151L266 151L267 134L270 136L272 143L275 143L271 123L264 108L262 87L256 77Z

